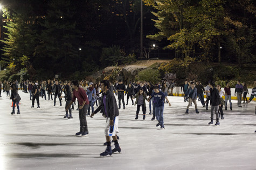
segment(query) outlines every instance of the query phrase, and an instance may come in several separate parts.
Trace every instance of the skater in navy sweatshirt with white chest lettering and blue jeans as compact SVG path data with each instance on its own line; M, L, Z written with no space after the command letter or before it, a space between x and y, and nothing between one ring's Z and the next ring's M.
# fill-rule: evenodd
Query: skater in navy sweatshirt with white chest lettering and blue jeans
M158 86L154 87L154 93L151 94L150 98L154 97L155 100L155 116L158 123L156 124L156 127L160 125L161 129L164 129L164 122L163 122L163 110L164 110L164 99L168 101L169 106L171 106L168 98L165 96L165 94L161 91L159 91Z

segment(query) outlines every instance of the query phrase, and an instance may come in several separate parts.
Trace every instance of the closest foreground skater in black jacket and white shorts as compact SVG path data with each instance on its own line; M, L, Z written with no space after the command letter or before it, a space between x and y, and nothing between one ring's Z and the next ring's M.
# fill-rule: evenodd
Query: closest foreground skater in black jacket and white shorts
M107 148L105 152L102 152L100 156L108 156L112 155L114 152L121 152L121 148L117 141L116 133L119 132L118 122L119 122L119 110L117 108L116 99L114 97L113 92L110 92L109 89L109 81L102 80L100 84L101 90L103 91L103 95L101 97L101 102L99 107L91 114L91 117L94 114L98 113L101 109L103 109L102 116L107 118L106 127L105 127L105 136L107 141ZM111 136L115 143L115 148L112 150L110 145Z

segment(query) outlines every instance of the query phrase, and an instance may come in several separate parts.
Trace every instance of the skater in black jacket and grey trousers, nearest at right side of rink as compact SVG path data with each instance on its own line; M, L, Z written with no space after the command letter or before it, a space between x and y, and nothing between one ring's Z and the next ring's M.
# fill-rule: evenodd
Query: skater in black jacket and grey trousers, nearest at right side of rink
M218 107L221 106L219 91L215 88L215 83L212 81L209 82L210 86L210 105L211 105L211 121L208 123L209 125L213 124L213 115L216 114L216 123L215 125L219 125L219 115L218 115ZM205 101L207 102L207 101Z

